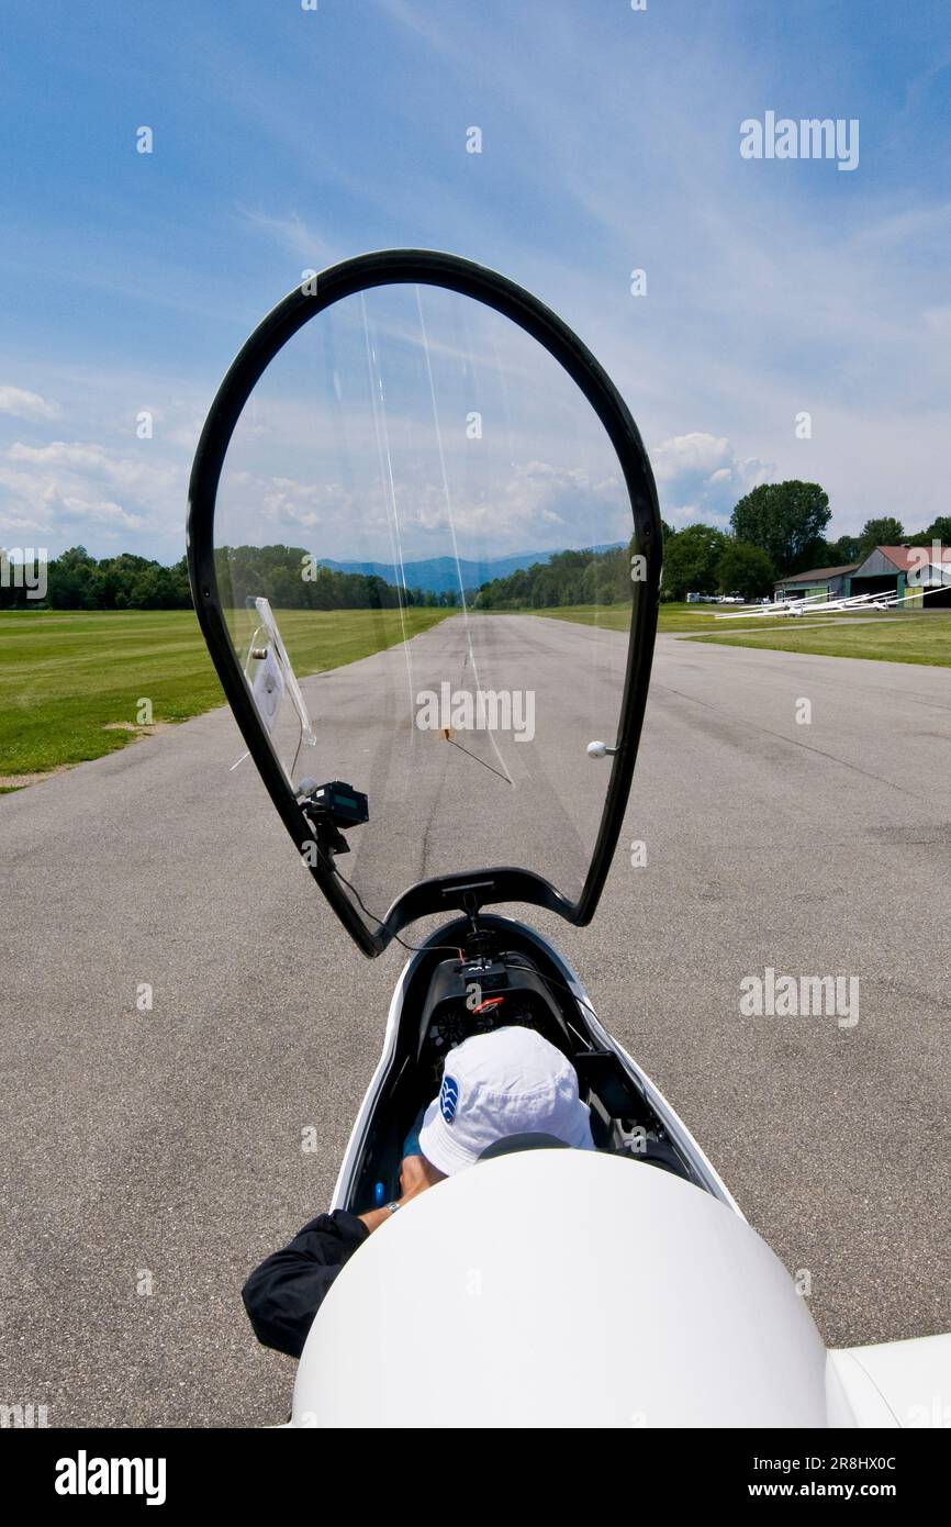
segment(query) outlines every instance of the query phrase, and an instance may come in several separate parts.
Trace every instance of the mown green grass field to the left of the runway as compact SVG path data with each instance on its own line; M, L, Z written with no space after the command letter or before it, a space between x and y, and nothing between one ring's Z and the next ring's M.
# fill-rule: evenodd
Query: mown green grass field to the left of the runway
M395 609L275 614L299 676L389 647L403 629ZM447 614L411 609L406 623L417 635ZM191 609L0 612L0 789L125 747L142 699L154 724L224 704Z

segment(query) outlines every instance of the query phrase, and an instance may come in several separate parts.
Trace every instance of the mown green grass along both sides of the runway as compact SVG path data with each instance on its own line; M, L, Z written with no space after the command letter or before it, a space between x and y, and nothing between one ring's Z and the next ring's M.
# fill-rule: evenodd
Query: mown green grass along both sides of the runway
M415 635L447 614L411 609L406 618ZM621 606L533 614L609 631L627 626ZM401 635L398 611L278 611L278 621L299 675L353 663ZM658 629L722 646L951 667L951 611L898 618L882 612L861 623L809 615L808 621L780 625L772 617L730 629L711 609L661 605ZM0 614L0 794L18 788L20 777L26 783L125 747L142 734L142 699L151 701L159 725L223 704L191 611Z

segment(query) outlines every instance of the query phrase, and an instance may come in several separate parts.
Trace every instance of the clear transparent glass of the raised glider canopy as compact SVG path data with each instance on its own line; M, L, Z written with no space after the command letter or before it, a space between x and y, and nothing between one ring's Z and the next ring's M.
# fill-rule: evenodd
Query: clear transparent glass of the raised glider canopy
M220 599L295 791L366 796L337 866L371 922L417 881L488 867L580 895L632 528L577 385L472 298L345 298L258 382L218 486Z

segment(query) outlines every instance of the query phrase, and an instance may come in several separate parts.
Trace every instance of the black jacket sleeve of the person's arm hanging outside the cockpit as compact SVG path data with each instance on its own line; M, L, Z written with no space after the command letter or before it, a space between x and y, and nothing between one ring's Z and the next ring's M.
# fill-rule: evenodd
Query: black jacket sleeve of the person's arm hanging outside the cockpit
M264 1347L299 1358L311 1321L345 1261L369 1231L356 1214L319 1214L284 1251L255 1267L241 1289L247 1318Z

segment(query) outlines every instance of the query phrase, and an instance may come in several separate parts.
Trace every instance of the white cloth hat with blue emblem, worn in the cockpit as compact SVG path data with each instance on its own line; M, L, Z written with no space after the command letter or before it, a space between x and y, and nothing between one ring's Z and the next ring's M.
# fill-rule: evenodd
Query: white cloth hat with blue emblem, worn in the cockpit
M574 1066L531 1029L475 1034L446 1057L440 1096L423 1116L420 1150L452 1176L508 1135L554 1135L565 1145L594 1150Z

